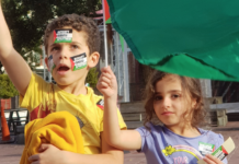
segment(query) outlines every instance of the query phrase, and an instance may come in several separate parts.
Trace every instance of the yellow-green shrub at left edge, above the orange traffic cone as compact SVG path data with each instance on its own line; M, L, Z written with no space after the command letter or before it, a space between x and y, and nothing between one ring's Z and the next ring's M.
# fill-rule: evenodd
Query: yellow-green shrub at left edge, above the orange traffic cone
M10 98L19 95L15 86L7 74L0 74L0 98Z

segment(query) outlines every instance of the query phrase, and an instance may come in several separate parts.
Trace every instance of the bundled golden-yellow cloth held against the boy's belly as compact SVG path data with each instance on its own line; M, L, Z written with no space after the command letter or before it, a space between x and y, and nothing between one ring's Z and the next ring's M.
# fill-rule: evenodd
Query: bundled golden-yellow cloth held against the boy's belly
M42 143L60 150L83 153L83 139L77 118L68 112L49 114L25 126L25 148L20 164L30 164L29 157L38 153Z

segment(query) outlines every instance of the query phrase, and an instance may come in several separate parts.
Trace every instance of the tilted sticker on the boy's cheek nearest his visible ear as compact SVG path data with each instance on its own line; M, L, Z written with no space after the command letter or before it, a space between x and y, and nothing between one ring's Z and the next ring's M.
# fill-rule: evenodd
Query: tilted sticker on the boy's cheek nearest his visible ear
M87 67L87 54L77 55L70 57L71 70L77 71Z

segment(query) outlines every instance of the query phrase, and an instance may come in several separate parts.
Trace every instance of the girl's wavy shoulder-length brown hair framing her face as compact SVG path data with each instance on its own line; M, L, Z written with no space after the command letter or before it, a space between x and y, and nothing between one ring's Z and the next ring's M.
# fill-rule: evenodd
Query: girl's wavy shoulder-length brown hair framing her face
M144 126L149 129L149 127L147 127L147 122L152 121L153 116L156 116L153 109L156 84L158 81L162 80L167 75L174 75L181 81L182 92L184 95L183 97L185 97L184 99L186 101L186 103L192 103L192 98L196 101L194 109L187 109L184 114L184 119L190 122L192 127L200 127L202 125L205 125L206 110L204 108L204 98L200 80L155 70L151 73L145 90L146 118Z

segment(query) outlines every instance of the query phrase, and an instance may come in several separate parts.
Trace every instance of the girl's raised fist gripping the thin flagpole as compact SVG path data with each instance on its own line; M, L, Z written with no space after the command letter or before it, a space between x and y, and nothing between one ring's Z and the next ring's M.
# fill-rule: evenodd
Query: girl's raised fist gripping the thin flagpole
M110 67L101 69L101 77L96 87L104 97L117 98L117 81Z

